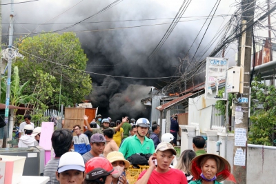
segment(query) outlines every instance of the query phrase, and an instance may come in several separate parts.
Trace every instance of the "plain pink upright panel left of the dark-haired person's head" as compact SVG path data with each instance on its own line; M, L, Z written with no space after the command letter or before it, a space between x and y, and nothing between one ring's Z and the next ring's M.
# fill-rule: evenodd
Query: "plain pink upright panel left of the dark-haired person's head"
M39 145L43 147L44 150L52 149L51 137L53 132L54 132L53 122L42 122Z

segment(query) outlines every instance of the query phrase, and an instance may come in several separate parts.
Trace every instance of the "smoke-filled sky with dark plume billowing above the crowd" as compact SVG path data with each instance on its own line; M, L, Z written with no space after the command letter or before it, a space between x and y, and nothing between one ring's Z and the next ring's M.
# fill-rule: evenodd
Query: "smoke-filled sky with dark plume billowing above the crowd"
M19 2L19 0L14 1L14 3L16 2ZM15 4L15 23L31 24L15 24L14 34L32 32L37 26L46 21L55 24L41 25L36 32L59 30L92 16L112 2L110 0L39 0ZM201 16L207 16L216 2L216 0L193 0L183 15L186 18L181 19L184 22L177 24L163 47L151 61L147 61L147 57L164 36L170 22L172 22L170 18L175 17L183 1L121 1L109 10L86 20L85 23L79 23L77 26L64 31L80 31L76 34L89 59L86 68L89 72L132 77L173 76L179 65L177 57L186 55L188 48L205 21L205 17ZM2 3L10 3L10 1L2 0ZM233 7L233 3L235 3L234 0L221 1L216 14L233 13L236 9L236 7ZM68 10L69 8L71 9ZM9 15L10 6L2 6L3 23L9 22ZM229 18L230 16L213 19L201 43L201 50L213 39L221 24L226 23ZM154 20L142 21L141 19ZM190 21L191 19L201 20ZM154 25L159 23L168 24ZM147 26L126 28L137 25ZM199 34L192 50L190 50L191 56L193 56L207 25ZM111 28L124 29L107 30ZM84 30L101 31L83 32ZM3 34L7 32L8 25L3 24ZM5 40L7 40L7 36L4 35L3 41ZM200 48L198 54L201 56ZM209 54L211 50L212 48L206 54ZM226 57L229 57L230 61L234 61L233 50L230 50ZM104 117L111 116L112 119L127 115L135 119L141 116L148 118L149 109L141 105L141 99L148 97L149 86L161 89L168 81L168 79L125 79L96 74L91 74L91 77L93 92L86 99L92 101L93 107L99 106L99 114Z

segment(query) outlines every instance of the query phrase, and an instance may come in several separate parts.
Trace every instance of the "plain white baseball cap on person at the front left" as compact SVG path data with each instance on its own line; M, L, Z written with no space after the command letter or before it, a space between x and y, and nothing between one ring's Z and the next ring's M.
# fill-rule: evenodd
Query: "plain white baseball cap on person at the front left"
M57 172L61 173L67 170L79 170L84 172L85 165L81 154L78 152L67 152L61 156Z

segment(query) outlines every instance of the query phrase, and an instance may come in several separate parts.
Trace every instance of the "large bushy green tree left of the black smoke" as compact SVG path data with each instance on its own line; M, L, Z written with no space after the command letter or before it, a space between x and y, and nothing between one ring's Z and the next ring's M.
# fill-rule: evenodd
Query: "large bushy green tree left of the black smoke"
M75 34L44 33L17 41L24 58L17 59L14 65L19 67L21 81L30 81L26 94L39 93L42 104L56 108L59 98L61 103L72 105L90 94L92 82L83 72L88 59Z

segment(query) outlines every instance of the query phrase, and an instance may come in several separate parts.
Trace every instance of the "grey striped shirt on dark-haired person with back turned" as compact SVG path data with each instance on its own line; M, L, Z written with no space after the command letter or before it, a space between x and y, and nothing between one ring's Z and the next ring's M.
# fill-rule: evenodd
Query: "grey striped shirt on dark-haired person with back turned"
M50 180L47 184L59 184L56 177L57 167L59 166L59 159L51 159L48 161L46 167L44 168L44 176L49 176Z

